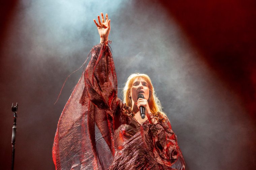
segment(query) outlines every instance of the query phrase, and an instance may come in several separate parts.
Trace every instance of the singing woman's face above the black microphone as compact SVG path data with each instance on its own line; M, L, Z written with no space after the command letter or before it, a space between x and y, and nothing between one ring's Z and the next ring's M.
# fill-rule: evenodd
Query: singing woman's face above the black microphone
M147 81L142 77L137 77L133 83L130 90L130 96L132 98L132 103L137 102L138 94L142 93L145 99L149 99L149 87Z

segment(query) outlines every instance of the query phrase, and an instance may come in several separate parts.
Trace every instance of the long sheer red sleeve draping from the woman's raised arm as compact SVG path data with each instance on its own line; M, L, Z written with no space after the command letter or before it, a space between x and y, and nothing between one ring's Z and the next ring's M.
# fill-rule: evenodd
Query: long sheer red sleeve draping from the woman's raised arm
M119 103L112 54L107 45L97 44L58 122L53 144L56 169L109 167L115 154L113 120Z

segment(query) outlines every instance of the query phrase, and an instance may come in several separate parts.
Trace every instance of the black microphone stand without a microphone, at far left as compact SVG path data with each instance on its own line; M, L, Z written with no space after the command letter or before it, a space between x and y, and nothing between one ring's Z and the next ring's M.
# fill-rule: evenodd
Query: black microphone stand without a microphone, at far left
M11 136L11 146L12 146L11 170L13 170L13 168L14 168L14 155L15 155L16 119L17 119L18 103L16 103L16 106L13 106L13 103L12 103L11 111L13 112L13 126L12 126L12 136Z

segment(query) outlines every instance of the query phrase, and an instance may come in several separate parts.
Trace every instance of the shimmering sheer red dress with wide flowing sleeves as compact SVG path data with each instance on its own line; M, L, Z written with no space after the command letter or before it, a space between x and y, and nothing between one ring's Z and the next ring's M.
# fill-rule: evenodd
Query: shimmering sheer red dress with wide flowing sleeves
M117 97L107 45L97 44L60 116L53 144L56 169L185 169L166 116L141 125Z

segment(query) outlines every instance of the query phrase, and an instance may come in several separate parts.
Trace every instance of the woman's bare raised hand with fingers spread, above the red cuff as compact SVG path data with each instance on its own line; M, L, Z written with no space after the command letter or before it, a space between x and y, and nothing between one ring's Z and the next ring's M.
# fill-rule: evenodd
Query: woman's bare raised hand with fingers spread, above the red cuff
M110 19L108 19L108 15L106 13L106 20L104 19L103 13L101 12L101 21L100 21L100 16L98 15L98 22L99 24L96 22L95 19L93 19L99 35L100 35L100 43L105 43L108 41L108 35L110 32Z

